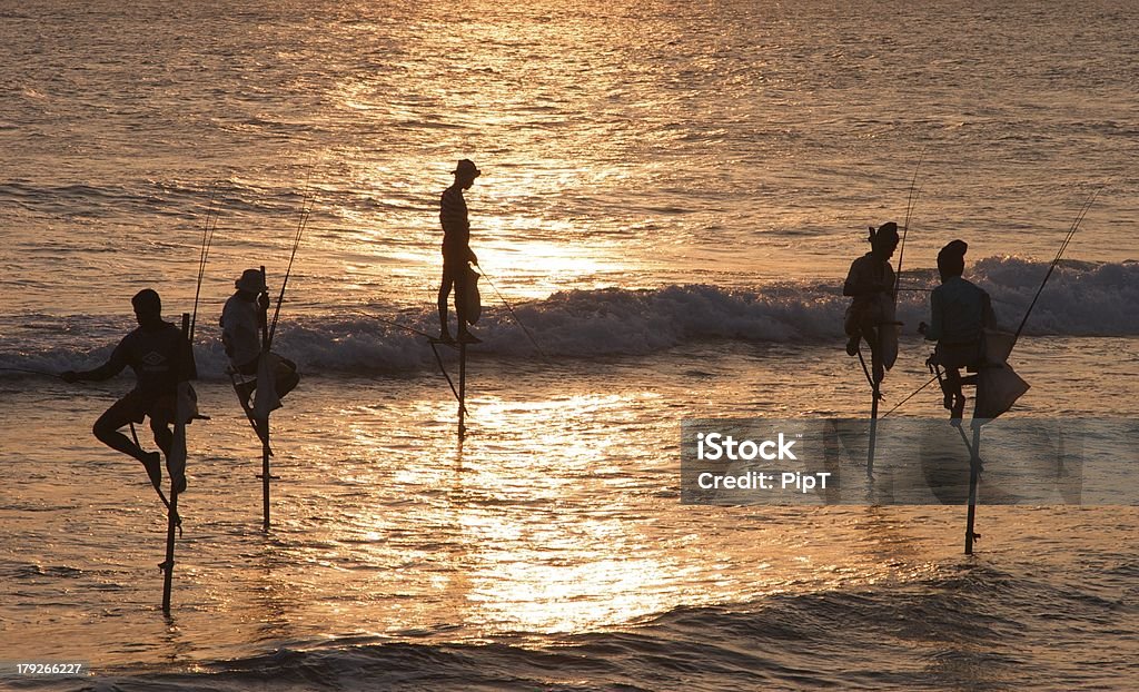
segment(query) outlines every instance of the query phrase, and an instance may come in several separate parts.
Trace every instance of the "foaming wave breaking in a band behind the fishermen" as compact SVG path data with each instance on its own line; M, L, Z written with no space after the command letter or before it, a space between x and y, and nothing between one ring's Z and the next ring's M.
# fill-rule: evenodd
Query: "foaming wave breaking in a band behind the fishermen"
M970 267L968 278L993 298L998 319L1016 328L1047 272L1048 264L1018 258L988 258ZM929 288L935 272L907 272L903 286ZM597 358L647 355L695 341L735 340L778 343L843 341L843 314L850 300L839 282L789 282L756 290L729 290L706 284L669 285L653 290L600 288L566 291L516 306L542 353L551 358ZM372 309L386 318L426 333L437 331L429 308L400 315ZM1062 263L1054 272L1025 327L1027 335L1139 335L1139 262ZM904 292L899 319L907 333L928 320L928 293ZM475 328L483 339L482 357L540 360L538 349L502 307L489 306ZM22 345L26 347L26 342ZM385 374L434 367L427 340L388 325L363 311L309 317L282 323L274 350L295 359L306 372ZM453 360L453 350L440 348ZM91 367L109 353L107 344L87 349L46 348L34 352L0 352L0 367L58 372ZM204 332L196 344L202 376L224 376L226 357L216 334ZM11 373L2 373L11 376ZM18 375L18 374L17 374Z

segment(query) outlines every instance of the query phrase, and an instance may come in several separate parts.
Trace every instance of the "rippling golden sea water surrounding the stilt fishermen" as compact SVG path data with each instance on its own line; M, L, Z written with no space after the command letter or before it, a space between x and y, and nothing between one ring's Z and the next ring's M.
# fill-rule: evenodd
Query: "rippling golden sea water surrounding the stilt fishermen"
M1002 324L1010 417L1136 415L1139 3L58 1L0 7L0 661L60 690L1126 689L1134 507L680 504L680 421L857 417L841 283L906 220L901 356L936 251ZM425 341L470 157L468 434ZM232 280L304 381L260 450ZM173 609L165 515L90 435L156 287L194 309ZM895 258L896 260L898 258ZM509 303L509 308L507 307ZM513 309L513 310L511 310ZM530 335L522 329L524 324ZM531 340L533 339L533 341ZM454 375L453 353L444 364ZM15 368L15 369L14 369ZM939 417L918 392L896 414ZM146 442L145 438L144 441ZM879 459L888 464L888 459ZM989 463L999 463L990 461Z

